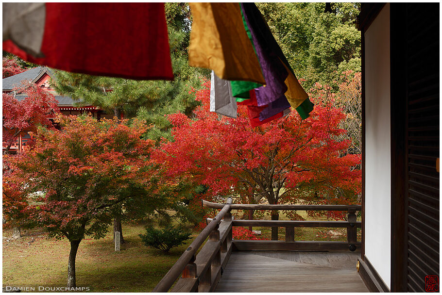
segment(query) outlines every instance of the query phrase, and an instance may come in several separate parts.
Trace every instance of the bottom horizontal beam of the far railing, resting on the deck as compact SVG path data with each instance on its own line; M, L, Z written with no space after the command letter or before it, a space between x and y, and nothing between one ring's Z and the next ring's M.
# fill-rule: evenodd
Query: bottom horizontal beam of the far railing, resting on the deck
M360 251L361 243L352 243L356 252ZM316 241L241 241L233 240L234 251L329 251L348 252L351 244L347 242L316 242Z

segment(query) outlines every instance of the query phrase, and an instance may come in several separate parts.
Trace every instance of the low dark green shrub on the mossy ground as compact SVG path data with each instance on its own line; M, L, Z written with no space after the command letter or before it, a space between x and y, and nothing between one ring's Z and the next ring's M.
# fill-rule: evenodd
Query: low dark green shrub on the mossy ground
M171 248L183 245L190 239L190 232L183 232L182 228L169 225L165 229L147 228L146 234L140 234L139 237L145 246L152 246L168 253Z

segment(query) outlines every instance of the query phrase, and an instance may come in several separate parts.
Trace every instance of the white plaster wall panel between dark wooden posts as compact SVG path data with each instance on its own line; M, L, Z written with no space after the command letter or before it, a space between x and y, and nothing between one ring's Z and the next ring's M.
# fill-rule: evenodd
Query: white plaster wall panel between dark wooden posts
M390 4L365 32L365 256L390 286Z

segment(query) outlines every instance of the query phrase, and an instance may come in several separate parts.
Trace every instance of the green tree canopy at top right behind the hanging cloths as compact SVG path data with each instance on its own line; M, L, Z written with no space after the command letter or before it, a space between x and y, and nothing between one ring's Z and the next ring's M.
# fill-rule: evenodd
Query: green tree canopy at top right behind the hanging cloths
M360 71L359 3L257 3L276 41L305 86L331 84L346 70Z

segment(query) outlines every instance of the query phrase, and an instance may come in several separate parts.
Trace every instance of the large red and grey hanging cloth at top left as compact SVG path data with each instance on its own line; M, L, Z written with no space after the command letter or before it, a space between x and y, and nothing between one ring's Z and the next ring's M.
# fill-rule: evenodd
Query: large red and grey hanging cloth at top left
M69 72L173 80L164 3L3 3L3 50Z

